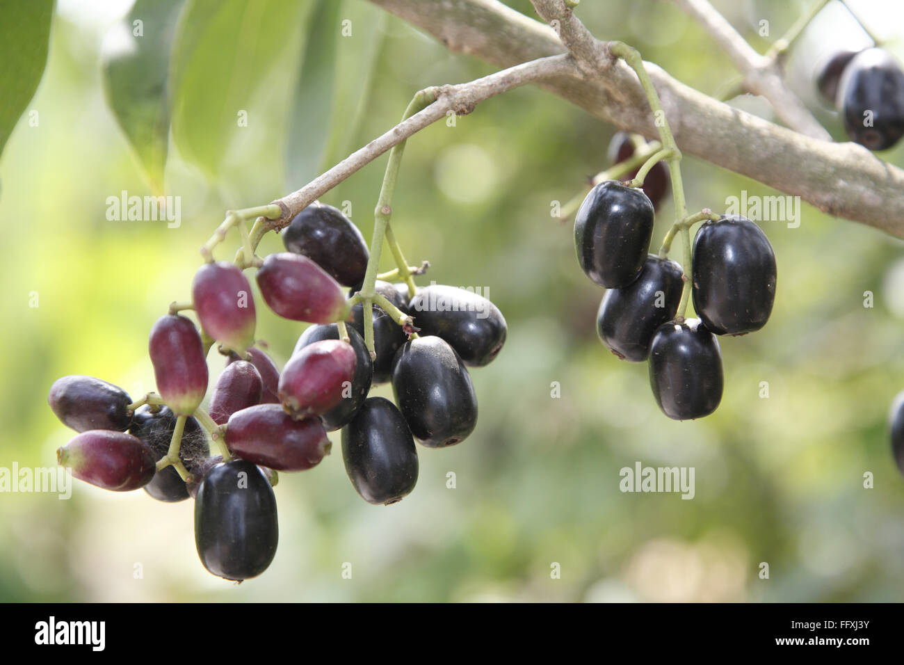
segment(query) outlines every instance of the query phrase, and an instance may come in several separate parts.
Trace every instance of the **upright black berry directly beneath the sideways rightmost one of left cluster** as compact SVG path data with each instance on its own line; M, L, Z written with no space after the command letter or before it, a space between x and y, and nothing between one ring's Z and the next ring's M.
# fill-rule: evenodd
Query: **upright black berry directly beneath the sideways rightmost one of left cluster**
M477 397L455 349L418 337L396 354L392 392L411 433L428 448L462 442L477 423Z

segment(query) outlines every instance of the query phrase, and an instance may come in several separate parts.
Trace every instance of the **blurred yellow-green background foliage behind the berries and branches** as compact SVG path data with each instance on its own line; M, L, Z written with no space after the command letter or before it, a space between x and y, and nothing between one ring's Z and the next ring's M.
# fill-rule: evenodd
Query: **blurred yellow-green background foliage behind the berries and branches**
M534 15L527 0L507 4ZM226 208L267 203L303 185L390 128L415 90L492 71L363 0L335 3L353 34L324 46L328 31L311 26L317 15L325 20L325 9L314 0L298 5L297 22L281 28L287 38L272 41L276 66L241 66L241 52L231 57L228 43L209 58L207 67L232 67L223 71L250 123L204 136L205 125L219 131L208 116L234 111L196 88L175 120L189 135L184 145L192 136L221 141L223 157L211 172L171 139L165 193L181 197L182 223L167 228L105 215L110 195L151 193L101 78L101 62L121 48L130 3L59 0L47 69L28 107L39 111L39 126L21 120L0 161L0 466L54 465L55 449L71 436L46 403L57 377L97 375L133 396L153 387L148 330L170 301L187 299L198 248ZM760 52L804 5L717 3ZM899 4L851 5L904 60ZM598 37L636 45L704 92L717 93L735 75L669 2L587 2L579 15ZM759 34L763 20L767 36ZM268 39L255 24L243 30L246 41ZM813 71L834 49L868 43L831 3L787 65L790 84L839 140L839 119L815 97ZM761 100L731 103L770 117ZM420 283L488 289L509 337L491 366L472 373L476 432L453 449L420 449L409 498L391 508L366 504L332 435L334 454L322 464L282 474L276 559L237 585L202 568L191 501L163 504L140 490L118 495L78 481L70 500L0 494L0 600L904 598L904 480L886 426L904 388L901 242L808 204L799 228L764 222L778 261L772 318L757 334L721 340L726 387L717 413L674 423L654 404L646 367L619 362L598 341L602 290L578 268L570 223L551 216L551 202L564 203L608 166L613 131L524 88L485 102L455 127L438 123L410 140L393 226L411 261L432 264ZM904 162L900 147L881 157ZM385 161L322 199L350 202L367 236ZM742 190L777 194L700 159L686 158L683 169L692 208L723 209ZM672 214L664 204L654 243ZM218 256L229 258L238 242L230 236ZM280 239L268 237L259 252L280 249ZM33 291L38 307L30 307ZM864 307L867 291L872 307ZM304 324L279 319L260 301L258 310L259 337L281 365ZM215 351L211 366L222 366ZM552 382L560 398L551 397ZM694 467L694 499L622 493L619 470L637 461ZM456 489L447 489L449 471ZM864 489L866 472L872 489ZM345 562L352 579L342 576ZM758 575L761 562L768 579ZM560 579L551 578L553 563Z

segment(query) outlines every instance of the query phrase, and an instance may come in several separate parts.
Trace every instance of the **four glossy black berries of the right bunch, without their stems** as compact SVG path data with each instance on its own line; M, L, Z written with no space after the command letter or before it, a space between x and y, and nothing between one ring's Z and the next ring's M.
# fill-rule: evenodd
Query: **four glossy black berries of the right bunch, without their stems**
M762 328L776 294L776 258L765 233L739 216L703 223L693 244L692 295L699 319L676 318L685 277L650 254L654 206L641 189L596 185L575 218L581 269L607 289L597 314L603 344L624 360L649 359L650 385L668 417L688 420L719 406L717 335Z

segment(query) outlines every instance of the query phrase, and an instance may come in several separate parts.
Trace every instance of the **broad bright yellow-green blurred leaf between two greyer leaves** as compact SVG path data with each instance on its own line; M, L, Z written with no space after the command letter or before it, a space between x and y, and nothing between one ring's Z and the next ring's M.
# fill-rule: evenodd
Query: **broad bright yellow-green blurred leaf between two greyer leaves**
M306 3L189 0L170 62L173 138L182 155L215 177L250 109L267 98L271 74L295 48ZM262 99L263 99L262 98Z

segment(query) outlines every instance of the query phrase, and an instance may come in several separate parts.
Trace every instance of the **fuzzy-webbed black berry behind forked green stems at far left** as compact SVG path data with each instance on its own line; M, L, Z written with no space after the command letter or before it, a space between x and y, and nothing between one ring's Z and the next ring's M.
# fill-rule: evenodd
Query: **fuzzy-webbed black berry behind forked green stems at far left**
M129 433L145 442L154 452L154 461L160 461L169 451L175 421L175 413L166 406L159 407L155 413L152 407L144 404L137 408ZM202 470L203 462L208 459L209 454L207 434L198 421L188 416L185 419L182 443L179 447L179 459L189 473L196 475ZM172 466L157 471L154 479L145 485L145 491L159 501L188 499L185 482Z

